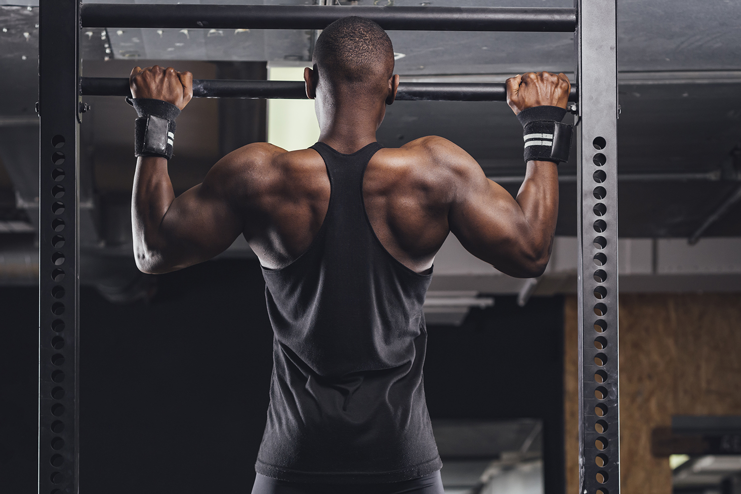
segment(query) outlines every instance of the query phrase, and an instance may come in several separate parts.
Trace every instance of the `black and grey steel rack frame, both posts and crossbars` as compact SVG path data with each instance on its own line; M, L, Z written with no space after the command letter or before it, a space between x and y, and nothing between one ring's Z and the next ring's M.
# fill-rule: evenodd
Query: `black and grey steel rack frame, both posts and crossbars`
M80 79L80 28L322 29L348 15L387 30L576 34L579 494L619 493L616 0L575 0L575 8L39 3L39 494L79 492L81 98L128 92L126 79ZM288 81L195 85L201 97L305 97L302 83ZM504 101L505 88L406 83L398 99Z

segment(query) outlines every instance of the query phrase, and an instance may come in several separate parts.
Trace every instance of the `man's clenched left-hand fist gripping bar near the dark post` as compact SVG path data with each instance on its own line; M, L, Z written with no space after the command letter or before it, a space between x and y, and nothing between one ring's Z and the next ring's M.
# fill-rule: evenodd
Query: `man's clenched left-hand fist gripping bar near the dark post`
M159 65L134 67L129 76L132 98L162 99L180 110L193 98L193 74Z

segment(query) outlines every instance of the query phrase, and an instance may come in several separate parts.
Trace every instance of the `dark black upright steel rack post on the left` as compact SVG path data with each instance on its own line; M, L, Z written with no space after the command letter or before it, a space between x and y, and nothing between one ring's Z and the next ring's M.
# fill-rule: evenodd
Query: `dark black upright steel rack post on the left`
M39 11L39 494L76 494L79 1Z

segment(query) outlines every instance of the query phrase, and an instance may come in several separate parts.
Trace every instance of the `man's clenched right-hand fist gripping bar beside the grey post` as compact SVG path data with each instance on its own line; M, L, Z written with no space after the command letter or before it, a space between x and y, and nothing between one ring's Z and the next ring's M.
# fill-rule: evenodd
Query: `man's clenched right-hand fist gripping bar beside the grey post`
M507 79L505 84L507 104L515 115L525 108L543 105L565 108L571 91L571 83L563 73L556 76L550 72L528 72Z

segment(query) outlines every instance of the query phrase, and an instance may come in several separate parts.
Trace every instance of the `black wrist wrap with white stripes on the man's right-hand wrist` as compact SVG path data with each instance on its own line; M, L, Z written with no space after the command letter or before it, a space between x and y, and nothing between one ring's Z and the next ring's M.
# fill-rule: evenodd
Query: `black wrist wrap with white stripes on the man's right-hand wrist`
M528 161L568 161L572 127L562 124L566 110L561 107L532 107L517 114L525 139L525 163Z

